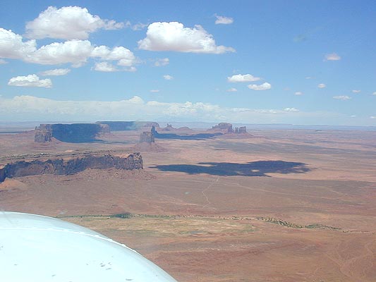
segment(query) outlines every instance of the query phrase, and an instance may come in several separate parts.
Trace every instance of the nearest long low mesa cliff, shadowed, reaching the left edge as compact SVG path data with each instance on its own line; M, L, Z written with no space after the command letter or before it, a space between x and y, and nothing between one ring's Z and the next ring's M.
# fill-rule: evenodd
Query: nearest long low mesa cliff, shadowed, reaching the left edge
M7 177L74 174L84 171L86 168L142 169L142 156L140 153L129 154L127 157L113 156L111 154L90 154L71 159L16 161L0 166L0 182Z

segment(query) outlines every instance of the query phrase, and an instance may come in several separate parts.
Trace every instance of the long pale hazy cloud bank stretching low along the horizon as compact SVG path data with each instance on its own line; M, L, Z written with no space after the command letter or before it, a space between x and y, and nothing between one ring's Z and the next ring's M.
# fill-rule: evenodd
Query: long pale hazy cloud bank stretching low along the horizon
M293 108L291 108L293 109ZM315 123L318 118L342 121L344 115L325 112L305 113L277 109L227 108L202 102L166 103L144 102L140 97L121 101L57 101L32 96L0 97L0 118L3 121L63 120L171 120L175 121L229 121L236 123ZM336 123L334 121L334 123Z

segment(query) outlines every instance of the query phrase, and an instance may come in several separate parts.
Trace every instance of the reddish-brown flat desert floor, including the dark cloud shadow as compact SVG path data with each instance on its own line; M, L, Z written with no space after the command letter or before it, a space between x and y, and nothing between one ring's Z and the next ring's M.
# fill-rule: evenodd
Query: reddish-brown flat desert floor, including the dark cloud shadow
M6 179L0 209L92 228L178 281L376 281L376 132L249 131L152 147L135 131L75 144L0 134L2 163L98 150L144 161Z

